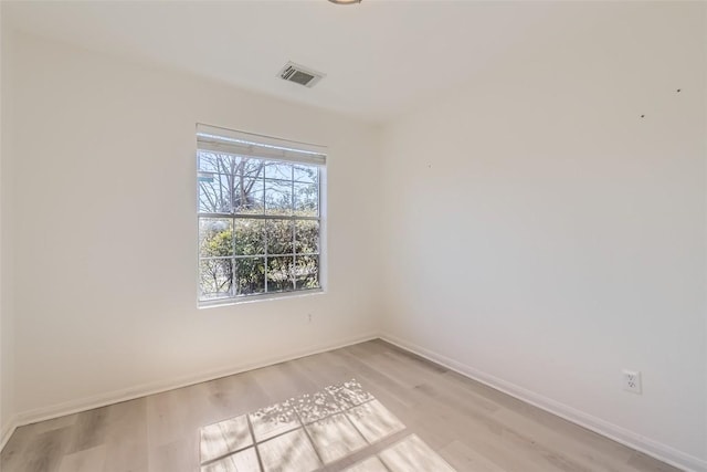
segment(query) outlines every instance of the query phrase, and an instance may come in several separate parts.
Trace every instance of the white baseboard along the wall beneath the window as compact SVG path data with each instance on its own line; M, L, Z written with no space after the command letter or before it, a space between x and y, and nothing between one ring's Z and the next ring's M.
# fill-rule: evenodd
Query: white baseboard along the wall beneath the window
M10 438L14 429L20 426L35 423L38 421L50 420L53 418L63 417L66 415L73 415L81 411L92 410L94 408L101 408L108 405L134 400L136 398L146 397L148 395L160 394L162 391L172 390L176 388L188 387L190 385L200 384L202 381L209 381L221 377L226 377L234 374L244 373L246 370L253 370L261 367L272 366L274 364L285 363L287 360L294 360L300 357L312 356L314 354L324 353L331 349L338 349L340 347L350 346L352 344L363 343L371 339L377 339L378 333L371 333L368 335L356 336L345 339L339 339L334 343L323 343L320 345L310 346L305 349L297 349L291 353L281 354L268 358L263 358L256 361L239 364L219 369L210 370L208 373L200 373L192 376L186 376L171 380L162 380L158 382L144 384L140 386L109 391L93 397L86 397L78 400L72 400L63 403L52 405L50 407L38 408L34 410L22 411L13 417L12 428L8 431L3 431L2 447L4 447L7 440ZM7 438L6 438L7 434Z

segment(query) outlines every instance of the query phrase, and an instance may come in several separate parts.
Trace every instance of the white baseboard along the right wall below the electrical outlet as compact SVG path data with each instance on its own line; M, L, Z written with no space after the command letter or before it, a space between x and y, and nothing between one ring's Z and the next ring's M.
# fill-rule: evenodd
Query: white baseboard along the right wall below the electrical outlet
M477 380L484 385L487 385L496 390L500 390L504 394L510 395L526 403L530 403L545 411L571 421L582 428L587 428L601 436L620 442L629 448L641 451L647 455L651 455L659 461L666 462L679 469L684 469L690 472L707 472L707 461L687 454L679 450L676 450L669 445L654 441L650 438L645 438L625 428L613 424L609 421L595 418L591 415L584 413L564 403L560 403L550 398L538 395L534 391L527 390L523 387L508 382L506 380L494 377L487 373L475 369L471 366L451 359L446 356L437 354L433 350L418 346L408 340L401 339L397 336L384 334L380 336L381 339L409 350L425 359L440 364L451 370L454 370L465 377Z

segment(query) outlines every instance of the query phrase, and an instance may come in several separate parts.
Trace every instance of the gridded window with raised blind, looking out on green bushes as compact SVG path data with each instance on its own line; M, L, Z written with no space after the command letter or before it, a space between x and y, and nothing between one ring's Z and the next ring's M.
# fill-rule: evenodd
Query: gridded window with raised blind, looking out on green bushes
M197 126L199 302L321 289L318 146Z

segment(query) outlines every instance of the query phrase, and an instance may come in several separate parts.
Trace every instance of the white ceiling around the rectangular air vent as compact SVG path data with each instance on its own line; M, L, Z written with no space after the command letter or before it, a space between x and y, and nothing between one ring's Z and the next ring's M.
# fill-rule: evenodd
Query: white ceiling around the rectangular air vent
M371 122L391 119L567 23L559 2L363 0L2 2L11 27ZM288 61L324 72L307 88Z

